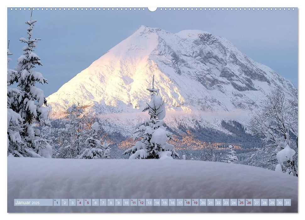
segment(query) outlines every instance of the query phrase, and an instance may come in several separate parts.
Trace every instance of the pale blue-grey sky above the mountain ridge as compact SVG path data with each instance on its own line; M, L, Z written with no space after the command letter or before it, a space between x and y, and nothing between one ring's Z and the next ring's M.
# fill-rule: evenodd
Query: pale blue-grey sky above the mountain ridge
M24 46L30 11L8 8L8 39L14 69ZM274 69L297 87L298 13L292 11L72 11L35 10L33 37L41 38L35 52L46 79L45 95L57 91L93 61L130 36L140 25L172 33L204 30L231 41L240 51Z

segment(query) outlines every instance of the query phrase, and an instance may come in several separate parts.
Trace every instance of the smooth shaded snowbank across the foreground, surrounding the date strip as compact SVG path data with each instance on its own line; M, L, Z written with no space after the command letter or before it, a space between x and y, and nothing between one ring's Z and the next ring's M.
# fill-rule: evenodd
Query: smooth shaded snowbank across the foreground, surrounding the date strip
M8 157L8 212L297 212L297 178L188 160ZM14 199L291 199L291 206L14 206Z

